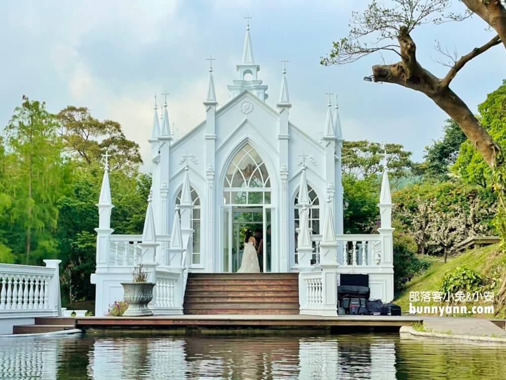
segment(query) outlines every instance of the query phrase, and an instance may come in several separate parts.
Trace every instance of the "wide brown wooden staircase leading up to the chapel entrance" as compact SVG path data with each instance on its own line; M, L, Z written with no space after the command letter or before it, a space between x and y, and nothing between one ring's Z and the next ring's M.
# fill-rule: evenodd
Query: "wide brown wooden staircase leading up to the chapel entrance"
M299 314L299 275L190 273L184 314Z

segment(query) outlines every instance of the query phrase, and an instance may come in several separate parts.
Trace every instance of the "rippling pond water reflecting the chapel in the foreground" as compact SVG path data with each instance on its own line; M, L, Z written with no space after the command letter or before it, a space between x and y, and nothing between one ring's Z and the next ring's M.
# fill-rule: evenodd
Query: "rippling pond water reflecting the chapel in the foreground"
M506 350L389 333L0 337L0 378L503 379Z

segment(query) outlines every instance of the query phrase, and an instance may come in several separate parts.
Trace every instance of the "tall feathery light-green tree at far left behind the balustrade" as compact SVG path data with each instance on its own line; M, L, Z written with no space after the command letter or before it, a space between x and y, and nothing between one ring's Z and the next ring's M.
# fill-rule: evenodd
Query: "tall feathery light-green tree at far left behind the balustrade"
M52 234L57 227L58 200L68 189L71 165L62 155L57 125L45 103L23 96L22 105L16 107L5 129L3 174L11 207L10 227L4 227L4 238L13 251L24 251L22 261L26 263L58 253Z

